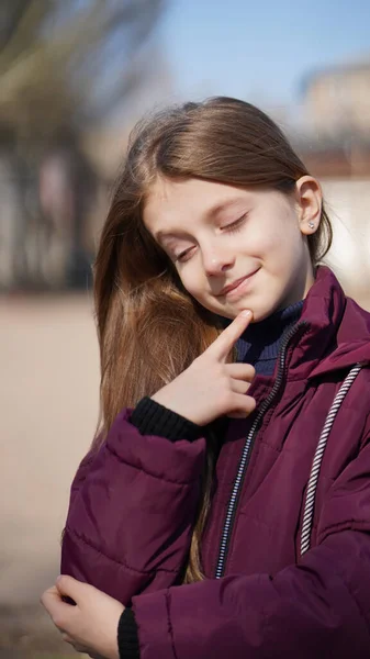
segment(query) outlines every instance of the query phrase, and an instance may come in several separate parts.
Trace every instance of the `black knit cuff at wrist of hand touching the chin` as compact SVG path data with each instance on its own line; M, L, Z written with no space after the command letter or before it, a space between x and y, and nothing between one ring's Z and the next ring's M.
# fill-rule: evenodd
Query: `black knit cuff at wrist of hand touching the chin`
M193 442L204 436L202 426L168 410L148 396L137 403L131 415L131 423L142 435L159 435L171 442L177 439Z

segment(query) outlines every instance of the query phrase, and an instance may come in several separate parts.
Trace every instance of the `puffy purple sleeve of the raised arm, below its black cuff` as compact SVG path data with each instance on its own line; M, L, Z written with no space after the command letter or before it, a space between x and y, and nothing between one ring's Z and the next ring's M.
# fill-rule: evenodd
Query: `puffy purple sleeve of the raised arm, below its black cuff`
M205 439L142 435L121 413L74 479L61 573L127 605L134 594L176 583L187 560Z

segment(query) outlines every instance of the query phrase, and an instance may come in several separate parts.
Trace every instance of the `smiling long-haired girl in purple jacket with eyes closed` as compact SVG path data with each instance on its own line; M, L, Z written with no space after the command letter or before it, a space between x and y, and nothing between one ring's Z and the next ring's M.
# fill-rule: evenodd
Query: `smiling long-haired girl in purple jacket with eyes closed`
M78 649L368 656L370 316L317 266L330 237L257 108L187 103L133 135L96 264L103 425L71 487L75 579L43 597Z

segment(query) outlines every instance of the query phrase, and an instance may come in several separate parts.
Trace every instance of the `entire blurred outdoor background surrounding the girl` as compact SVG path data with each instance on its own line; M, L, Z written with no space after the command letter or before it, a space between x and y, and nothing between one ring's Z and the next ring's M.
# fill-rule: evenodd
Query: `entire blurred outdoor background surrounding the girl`
M69 651L38 596L98 416L91 264L127 135L214 94L289 134L370 310L367 0L0 1L0 659Z

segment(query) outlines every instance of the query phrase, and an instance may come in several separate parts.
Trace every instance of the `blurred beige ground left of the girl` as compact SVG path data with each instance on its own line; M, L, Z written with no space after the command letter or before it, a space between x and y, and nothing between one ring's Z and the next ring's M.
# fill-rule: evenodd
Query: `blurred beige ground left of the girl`
M87 295L0 298L0 647L43 627L38 597L58 574L70 481L97 422L98 360Z

